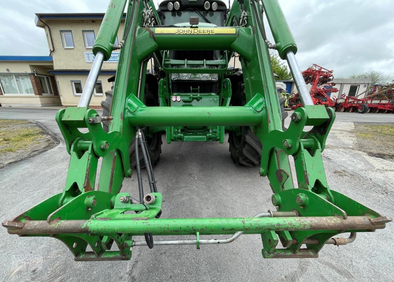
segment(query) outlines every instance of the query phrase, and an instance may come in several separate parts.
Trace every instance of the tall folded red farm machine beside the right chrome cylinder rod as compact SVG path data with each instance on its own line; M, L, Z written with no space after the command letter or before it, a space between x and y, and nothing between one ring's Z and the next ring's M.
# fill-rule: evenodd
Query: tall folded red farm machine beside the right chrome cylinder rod
M330 93L338 92L338 89L333 88L335 83L331 82L334 79L333 70L313 64L312 67L304 70L302 74L305 83L312 84L309 93L313 104L335 107L335 100L329 95ZM288 100L288 105L290 109L297 109L303 106L298 93Z

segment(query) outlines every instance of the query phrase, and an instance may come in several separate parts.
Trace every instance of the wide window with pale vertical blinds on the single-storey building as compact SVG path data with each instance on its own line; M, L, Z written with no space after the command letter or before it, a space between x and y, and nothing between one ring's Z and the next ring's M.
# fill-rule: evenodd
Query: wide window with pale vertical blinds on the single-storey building
M0 85L4 95L34 95L28 75L0 75Z

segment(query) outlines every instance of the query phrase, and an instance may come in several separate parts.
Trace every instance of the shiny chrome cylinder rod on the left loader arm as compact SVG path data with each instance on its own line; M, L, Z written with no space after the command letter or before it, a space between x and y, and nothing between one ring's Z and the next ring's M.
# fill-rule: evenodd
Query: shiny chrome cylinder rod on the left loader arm
M88 107L90 99L92 98L93 91L96 87L97 79L99 78L102 63L104 61L104 53L99 51L95 56L92 68L90 69L89 75L87 76L84 90L82 91L81 98L78 102L78 107Z

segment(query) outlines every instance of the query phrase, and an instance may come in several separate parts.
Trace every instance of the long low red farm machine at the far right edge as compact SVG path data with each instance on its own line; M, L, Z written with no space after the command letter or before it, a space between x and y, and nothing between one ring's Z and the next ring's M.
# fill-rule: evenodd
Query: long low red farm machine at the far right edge
M375 84L356 97L336 99L336 111L358 113L393 113L394 112L394 83ZM366 95L364 98L358 98Z

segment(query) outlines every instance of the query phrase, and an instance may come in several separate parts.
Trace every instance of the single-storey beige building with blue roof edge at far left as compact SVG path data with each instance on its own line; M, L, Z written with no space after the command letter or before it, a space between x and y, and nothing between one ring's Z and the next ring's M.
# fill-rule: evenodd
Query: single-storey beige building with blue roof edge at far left
M50 56L0 56L2 107L61 105Z

